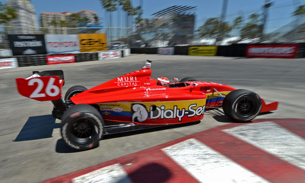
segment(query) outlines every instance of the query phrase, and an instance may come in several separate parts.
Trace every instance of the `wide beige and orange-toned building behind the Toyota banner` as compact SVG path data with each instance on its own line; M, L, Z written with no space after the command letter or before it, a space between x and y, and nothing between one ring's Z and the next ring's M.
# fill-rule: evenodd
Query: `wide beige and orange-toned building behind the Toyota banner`
M77 14L79 18L84 18L83 21L72 20L73 14ZM99 21L96 12L84 9L77 12L42 12L40 14L40 24L42 27L50 27L47 29L48 34L71 34L78 33L78 30L56 27L86 27L88 25L99 25Z

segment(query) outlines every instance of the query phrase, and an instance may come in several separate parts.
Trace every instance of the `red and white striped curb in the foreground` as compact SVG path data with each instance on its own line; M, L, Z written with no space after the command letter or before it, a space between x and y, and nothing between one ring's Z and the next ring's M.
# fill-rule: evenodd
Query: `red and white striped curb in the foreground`
M43 182L305 182L305 119L230 123Z

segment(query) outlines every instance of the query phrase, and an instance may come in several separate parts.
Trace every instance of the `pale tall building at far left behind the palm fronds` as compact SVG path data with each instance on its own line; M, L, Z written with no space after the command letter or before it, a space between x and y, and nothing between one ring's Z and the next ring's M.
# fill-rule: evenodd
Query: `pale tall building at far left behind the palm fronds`
M6 0L6 6L16 10L18 17L10 20L10 26L37 27L37 18L34 6L29 0ZM10 28L8 33L32 34L37 28Z

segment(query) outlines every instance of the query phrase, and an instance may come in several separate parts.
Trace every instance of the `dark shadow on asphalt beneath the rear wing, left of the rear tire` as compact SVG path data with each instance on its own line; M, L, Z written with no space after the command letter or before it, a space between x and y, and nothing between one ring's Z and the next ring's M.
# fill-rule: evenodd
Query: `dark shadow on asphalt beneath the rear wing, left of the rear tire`
M52 137L54 128L59 128L52 115L37 115L28 117L19 134L13 141L35 140Z

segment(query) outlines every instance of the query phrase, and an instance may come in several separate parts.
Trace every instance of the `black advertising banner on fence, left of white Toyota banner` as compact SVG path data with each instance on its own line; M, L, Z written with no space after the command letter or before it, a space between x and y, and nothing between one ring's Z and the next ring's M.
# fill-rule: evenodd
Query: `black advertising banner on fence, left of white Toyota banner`
M12 55L46 54L43 34L8 34Z

